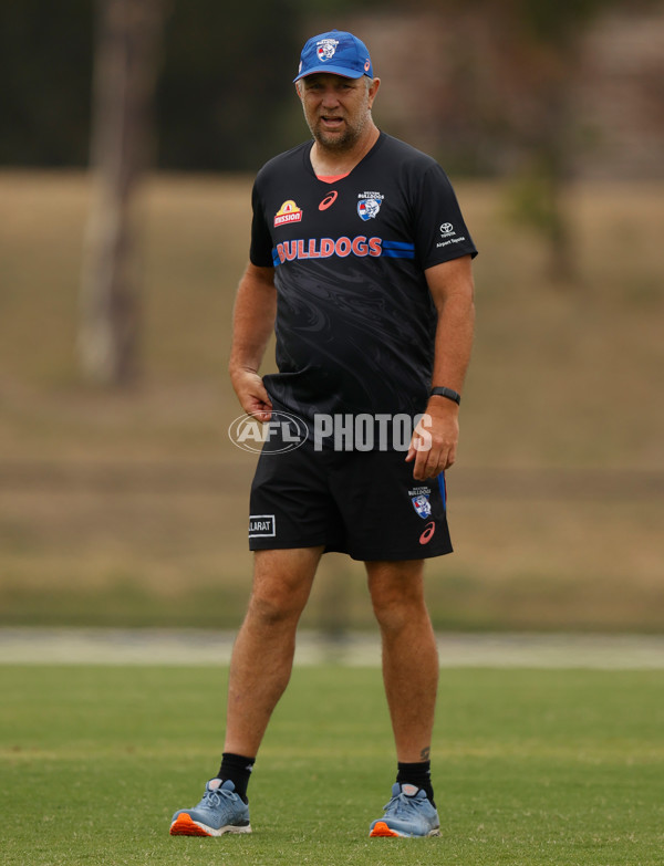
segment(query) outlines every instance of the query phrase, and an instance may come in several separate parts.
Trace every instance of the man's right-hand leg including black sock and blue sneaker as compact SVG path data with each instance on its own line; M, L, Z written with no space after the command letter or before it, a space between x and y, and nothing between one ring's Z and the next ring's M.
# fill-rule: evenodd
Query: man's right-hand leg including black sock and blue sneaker
M436 836L430 743L438 651L424 601L424 563L367 562L369 588L383 640L383 680L392 719L397 781L372 836Z

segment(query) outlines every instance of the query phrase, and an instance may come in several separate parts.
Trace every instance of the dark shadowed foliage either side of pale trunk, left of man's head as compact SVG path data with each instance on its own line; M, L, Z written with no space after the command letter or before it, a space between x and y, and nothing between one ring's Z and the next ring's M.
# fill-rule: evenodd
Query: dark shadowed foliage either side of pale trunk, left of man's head
M158 167L255 170L292 143L288 83L304 4L167 2ZM94 9L91 0L0 3L0 164L87 164Z

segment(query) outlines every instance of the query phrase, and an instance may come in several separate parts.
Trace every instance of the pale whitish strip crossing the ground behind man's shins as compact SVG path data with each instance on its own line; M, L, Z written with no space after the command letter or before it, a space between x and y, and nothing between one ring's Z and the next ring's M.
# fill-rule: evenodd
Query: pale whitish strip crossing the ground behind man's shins
M235 633L165 629L0 628L0 665L224 666ZM440 634L440 667L664 669L664 636ZM295 665L378 667L377 634L298 636Z

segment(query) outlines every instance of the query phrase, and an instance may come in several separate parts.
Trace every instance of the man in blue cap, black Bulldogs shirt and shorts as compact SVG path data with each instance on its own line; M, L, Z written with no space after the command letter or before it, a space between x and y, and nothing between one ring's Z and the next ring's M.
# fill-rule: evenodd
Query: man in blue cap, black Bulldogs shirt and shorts
M444 471L457 447L476 250L442 168L375 126L380 80L359 39L310 39L295 86L313 142L256 179L230 376L245 411L297 416L309 436L290 450L272 436L263 447L222 763L170 832L250 832L247 783L290 677L300 614L321 555L341 551L365 562L397 754L392 799L370 835L435 836L438 659L423 564L452 550ZM273 327L279 373L261 378ZM369 447L366 436L353 441L360 417L373 419ZM404 417L414 425L405 455L395 445Z

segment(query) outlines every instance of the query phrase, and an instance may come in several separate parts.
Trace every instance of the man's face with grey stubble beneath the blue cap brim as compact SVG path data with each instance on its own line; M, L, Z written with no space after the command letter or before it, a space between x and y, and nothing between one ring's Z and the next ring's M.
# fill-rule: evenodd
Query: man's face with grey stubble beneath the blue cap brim
M371 106L378 80L367 87L367 79L315 73L300 80L300 98L307 125L322 147L350 150L360 140L371 119Z

